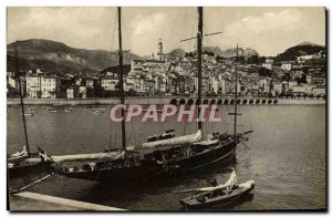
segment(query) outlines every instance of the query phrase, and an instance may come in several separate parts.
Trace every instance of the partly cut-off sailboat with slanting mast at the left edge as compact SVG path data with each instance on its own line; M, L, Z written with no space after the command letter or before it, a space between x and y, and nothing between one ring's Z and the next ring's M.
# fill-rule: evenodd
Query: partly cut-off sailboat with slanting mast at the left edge
M21 152L17 152L12 155L10 155L7 158L7 167L9 170L9 176L14 176L17 173L20 172L27 172L28 169L32 167L37 167L40 165L41 161L34 161L31 162L30 159L33 157L38 157L38 153L31 153L30 146L29 146L29 140L28 140L28 132L27 132L27 123L25 123L25 116L33 115L31 112L34 110L28 108L29 112L24 111L24 103L23 103L23 95L22 95L22 86L21 86L21 79L20 79L20 69L19 69L19 61L18 61L18 50L15 49L15 63L17 63L17 75L19 80L19 93L20 93L20 101L21 101L21 114L23 120L23 127L24 127L24 138L25 138L25 145L23 146L23 149ZM34 111L35 112L35 111Z

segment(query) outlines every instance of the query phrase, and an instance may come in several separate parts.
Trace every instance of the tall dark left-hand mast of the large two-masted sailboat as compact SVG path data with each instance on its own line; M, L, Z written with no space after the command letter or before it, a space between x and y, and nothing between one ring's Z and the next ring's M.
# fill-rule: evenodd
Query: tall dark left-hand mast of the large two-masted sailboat
M124 87L123 87L123 51L122 51L122 32L121 32L121 7L117 7L118 19L118 64L120 64L120 103L124 105ZM124 120L124 108L121 107L121 132L122 132L122 147L126 149L126 126Z

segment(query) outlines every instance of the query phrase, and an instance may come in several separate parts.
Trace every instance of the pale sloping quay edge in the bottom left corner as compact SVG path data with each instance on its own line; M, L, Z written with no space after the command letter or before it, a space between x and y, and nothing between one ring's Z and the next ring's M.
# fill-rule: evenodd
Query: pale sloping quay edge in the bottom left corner
M9 197L10 211L50 211L50 210L81 210L81 211L125 211L116 207L90 204L61 197L53 197L31 192L22 192Z

